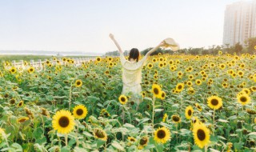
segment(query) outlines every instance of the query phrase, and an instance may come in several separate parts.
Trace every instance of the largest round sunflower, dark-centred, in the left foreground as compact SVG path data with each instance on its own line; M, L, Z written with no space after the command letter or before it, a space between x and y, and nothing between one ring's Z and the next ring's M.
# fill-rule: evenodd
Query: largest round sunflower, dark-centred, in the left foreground
M52 124L60 134L69 134L74 129L74 116L68 110L59 110L54 115Z

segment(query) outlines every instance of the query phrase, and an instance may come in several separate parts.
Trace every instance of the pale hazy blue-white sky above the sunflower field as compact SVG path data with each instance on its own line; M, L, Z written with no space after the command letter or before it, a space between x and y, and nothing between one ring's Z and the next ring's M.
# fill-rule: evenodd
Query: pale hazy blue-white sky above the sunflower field
M238 0L0 0L0 50L105 53L222 45L226 5Z

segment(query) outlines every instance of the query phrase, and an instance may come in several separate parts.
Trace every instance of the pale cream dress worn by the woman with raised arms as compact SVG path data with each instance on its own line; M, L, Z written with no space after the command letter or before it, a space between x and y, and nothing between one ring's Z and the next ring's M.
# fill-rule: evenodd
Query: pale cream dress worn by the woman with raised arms
M138 62L130 62L126 60L123 54L120 54L122 63L122 94L140 94L142 92L142 66L146 62L146 57L143 57Z

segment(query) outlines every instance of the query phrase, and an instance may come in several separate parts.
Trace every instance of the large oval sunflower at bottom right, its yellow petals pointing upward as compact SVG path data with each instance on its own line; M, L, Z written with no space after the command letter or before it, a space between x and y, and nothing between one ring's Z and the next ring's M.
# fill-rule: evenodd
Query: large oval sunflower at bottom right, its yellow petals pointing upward
M200 148L210 143L210 130L203 123L195 123L193 128L194 143Z

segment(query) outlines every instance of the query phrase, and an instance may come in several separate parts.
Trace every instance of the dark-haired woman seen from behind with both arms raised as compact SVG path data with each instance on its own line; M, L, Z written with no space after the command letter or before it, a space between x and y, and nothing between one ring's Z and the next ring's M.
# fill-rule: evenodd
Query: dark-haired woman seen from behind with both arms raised
M131 49L129 58L128 60L126 60L126 58L123 55L121 47L119 46L118 42L114 39L114 35L110 34L110 38L118 47L120 61L122 63L122 94L128 94L130 92L132 94L140 94L142 92L142 66L144 65L146 59L150 56L150 54L152 54L155 50L158 50L160 46L165 46L166 42L160 42L158 46L155 46L140 61L138 61L138 49Z

